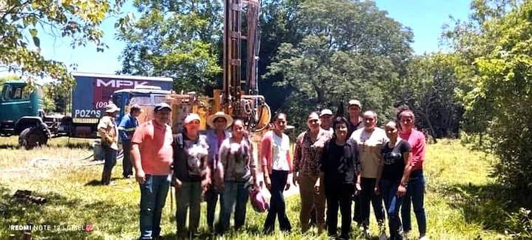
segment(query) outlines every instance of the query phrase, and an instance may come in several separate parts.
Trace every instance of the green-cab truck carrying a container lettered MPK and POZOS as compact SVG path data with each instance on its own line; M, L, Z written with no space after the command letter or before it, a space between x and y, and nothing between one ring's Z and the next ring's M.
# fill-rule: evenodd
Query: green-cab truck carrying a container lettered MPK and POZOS
M120 107L117 121L127 114L125 107L135 98L166 95L173 87L170 77L142 77L73 73L75 86L70 97L71 112L44 112L42 86L23 81L5 82L0 96L0 135L19 136L19 145L32 149L50 138L97 138L97 123L109 102ZM114 101L113 101L114 100Z

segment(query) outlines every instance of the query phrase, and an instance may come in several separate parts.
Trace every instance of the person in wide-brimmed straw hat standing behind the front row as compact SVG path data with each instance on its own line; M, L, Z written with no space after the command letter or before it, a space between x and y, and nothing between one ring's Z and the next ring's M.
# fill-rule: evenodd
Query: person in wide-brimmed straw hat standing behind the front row
M227 128L233 124L233 118L225 114L223 111L218 111L213 115L207 117L207 125L210 129L207 130L205 135L207 136L207 144L209 145L209 158L208 163L211 171L214 172L212 183L209 185L209 190L205 193L205 201L207 201L207 225L209 226L209 232L214 230L214 212L216 210L216 203L218 203L218 196L220 195L220 189L216 185L220 185L222 179L218 166L218 150L222 145L222 142L229 138L229 131ZM220 204L221 204L220 196Z

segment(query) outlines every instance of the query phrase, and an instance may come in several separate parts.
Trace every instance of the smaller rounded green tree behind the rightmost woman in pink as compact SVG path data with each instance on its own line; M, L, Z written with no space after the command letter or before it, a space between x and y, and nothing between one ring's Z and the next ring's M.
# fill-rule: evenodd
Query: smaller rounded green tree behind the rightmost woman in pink
M455 94L456 57L434 53L413 57L408 75L395 82L390 96L397 105L406 104L418 116L421 129L434 137L456 137L462 120L462 104Z

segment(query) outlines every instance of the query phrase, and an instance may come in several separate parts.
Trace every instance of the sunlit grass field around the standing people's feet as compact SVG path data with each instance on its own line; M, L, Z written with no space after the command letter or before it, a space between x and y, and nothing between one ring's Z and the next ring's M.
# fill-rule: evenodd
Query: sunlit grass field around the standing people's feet
M11 230L12 225L33 223L50 225L50 230L34 230L33 239L135 239L138 237L139 188L133 179L122 179L119 163L113 170L115 186L99 185L102 165L75 166L91 163L79 159L92 153L91 140L54 139L50 147L32 151L17 149L17 138L1 138L0 145L0 239L23 232ZM63 158L40 160L35 158ZM488 178L491 158L471 151L454 140L440 140L428 145L426 157L426 213L430 239L509 239L500 228L489 224L481 210L481 201L472 203L471 196L494 183ZM32 163L32 164L30 164ZM14 171L6 171L14 170ZM43 205L17 201L16 190L30 190L48 200ZM175 201L175 199L174 199ZM174 203L175 204L175 203ZM471 205L473 204L473 206ZM475 207L479 204L479 207ZM175 238L175 222L170 194L164 208L162 234ZM239 232L229 232L226 239L327 239L316 230L302 235L298 231L299 196L289 196L287 211L294 231L260 234L266 214L258 214L248 206L247 226ZM495 213L499 211L494 211ZM218 212L217 212L218 214ZM413 215L413 213L412 213ZM494 217L494 216L489 216ZM495 216L497 217L497 216ZM372 232L377 233L372 214ZM72 229L93 225L93 230ZM202 204L202 230L205 231L205 204ZM412 216L412 237L417 239L417 225ZM59 226L59 229L55 229ZM208 234L202 234L208 238ZM377 239L377 237L374 237Z

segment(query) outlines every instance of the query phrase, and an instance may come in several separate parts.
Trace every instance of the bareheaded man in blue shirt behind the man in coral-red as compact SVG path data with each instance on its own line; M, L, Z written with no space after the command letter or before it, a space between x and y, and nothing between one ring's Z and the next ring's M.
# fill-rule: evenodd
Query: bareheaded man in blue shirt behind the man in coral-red
M142 113L142 109L137 104L133 104L129 109L129 114L122 118L118 125L120 133L120 140L122 140L122 149L124 149L124 158L122 158L122 176L124 178L131 178L133 176L133 163L131 162L131 138L135 129L139 125L138 116Z

